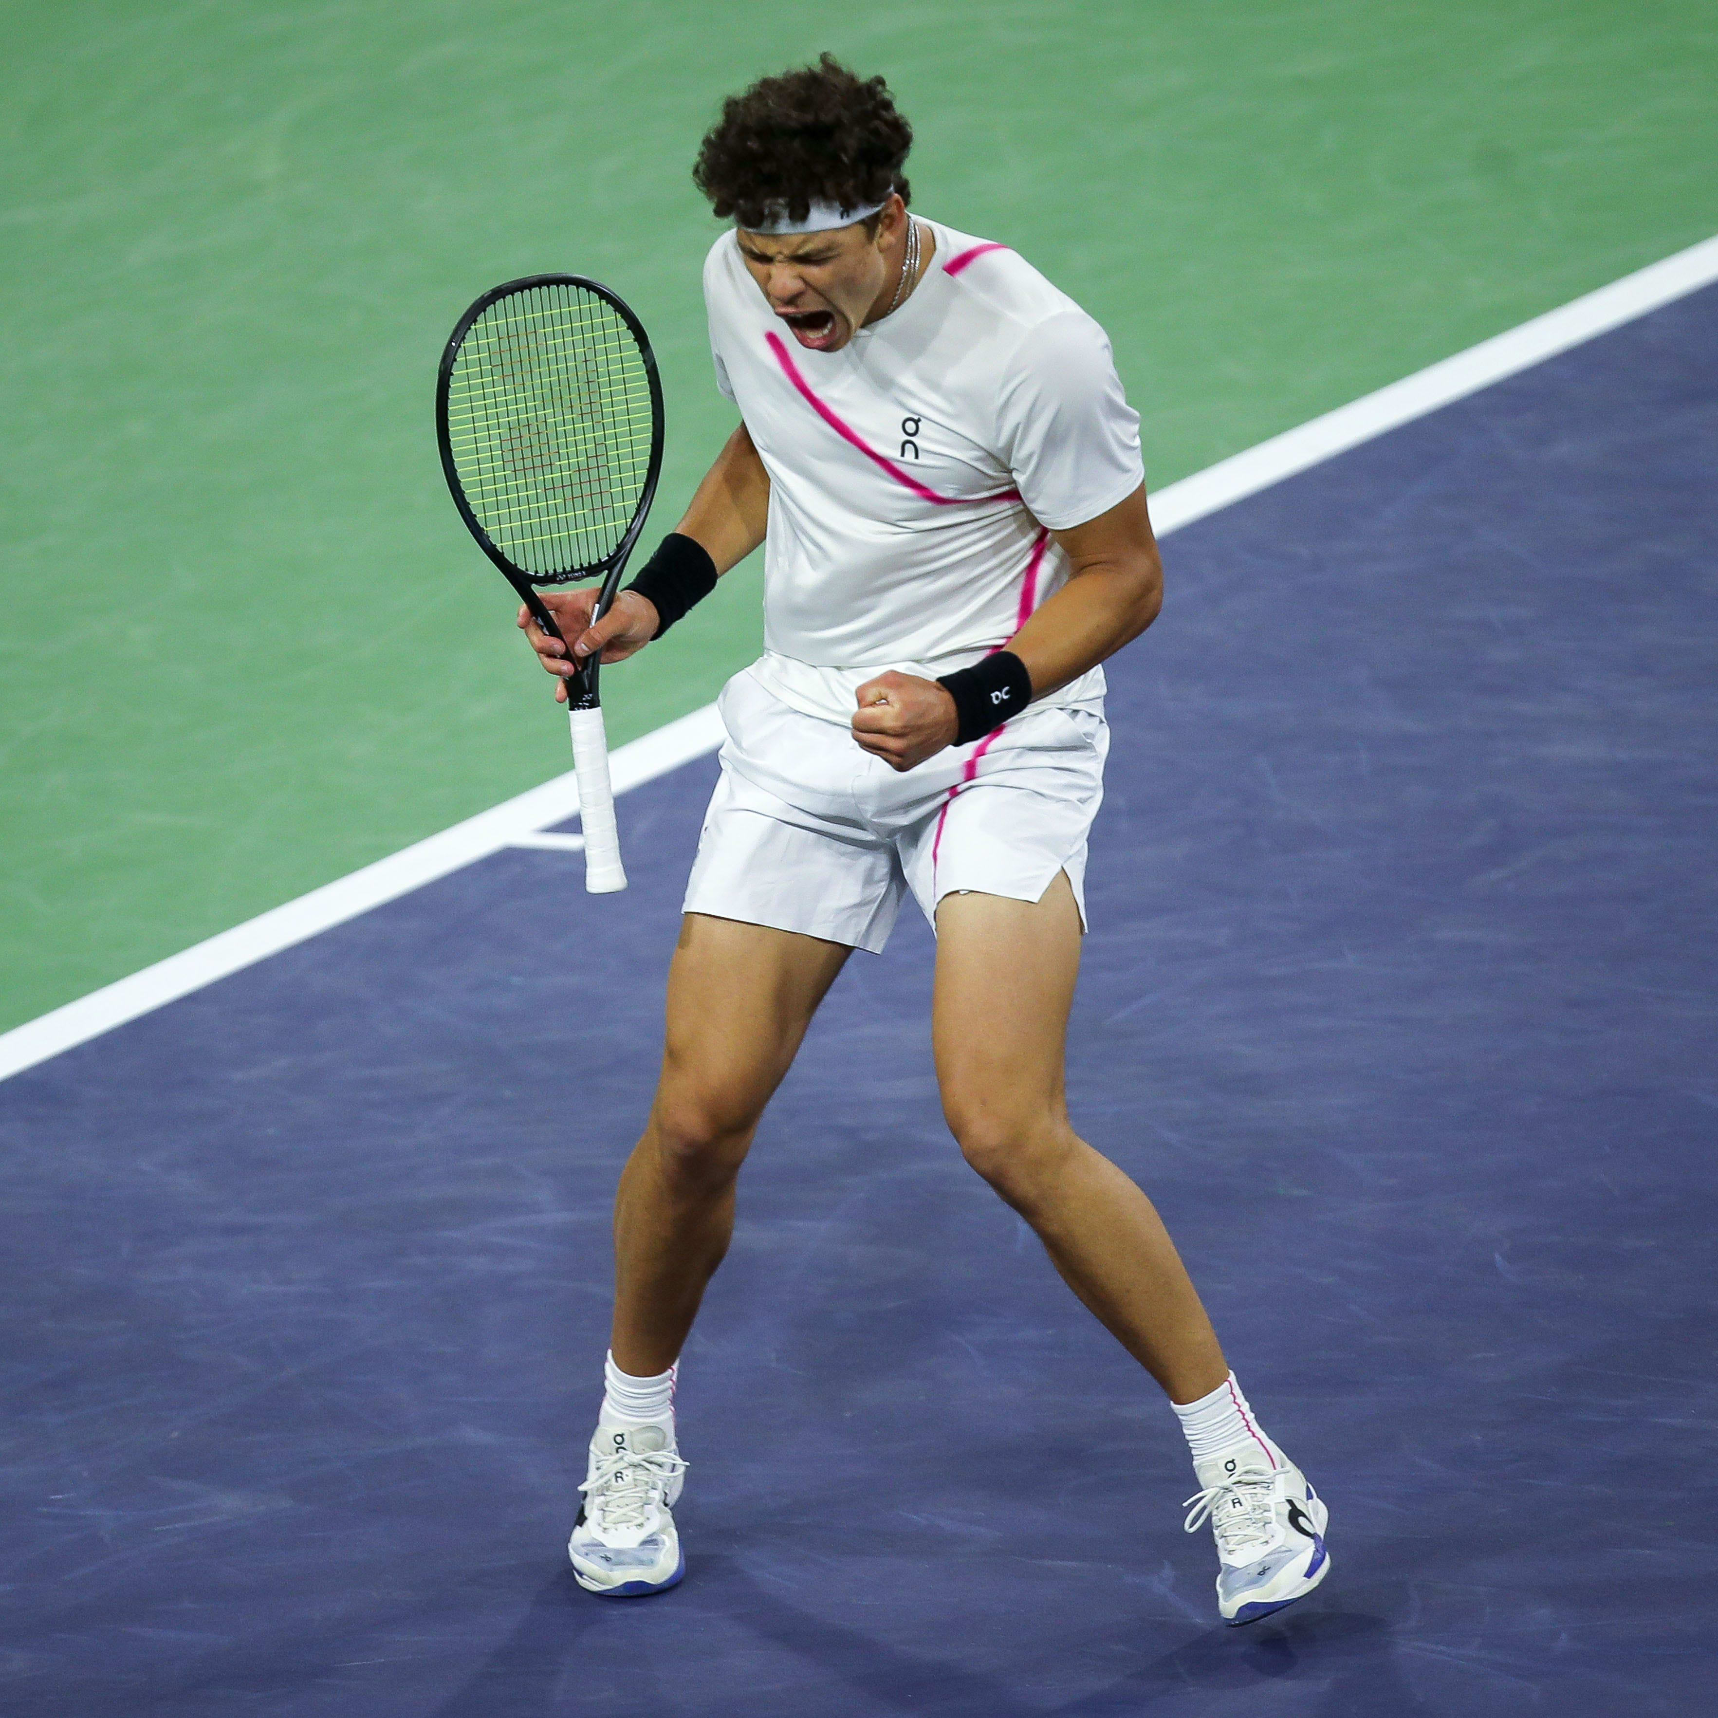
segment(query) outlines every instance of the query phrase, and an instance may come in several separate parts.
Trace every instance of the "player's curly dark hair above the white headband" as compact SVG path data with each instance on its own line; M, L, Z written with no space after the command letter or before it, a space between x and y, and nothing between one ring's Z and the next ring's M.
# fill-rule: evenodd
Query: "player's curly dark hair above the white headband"
M692 180L716 216L758 227L778 210L804 220L813 201L844 210L911 191L902 174L912 127L881 77L861 79L833 55L759 77L722 103Z

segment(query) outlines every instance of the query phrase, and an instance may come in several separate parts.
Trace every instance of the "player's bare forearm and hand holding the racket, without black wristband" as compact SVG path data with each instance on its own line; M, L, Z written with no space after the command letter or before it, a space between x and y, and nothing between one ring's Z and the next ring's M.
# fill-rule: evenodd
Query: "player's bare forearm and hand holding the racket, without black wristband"
M770 472L765 471L746 424L740 424L728 436L673 529L680 536L692 538L716 564L720 576L737 567L763 543L768 522ZM591 625L594 584L582 591L543 591L541 596L555 624L574 641L574 653L589 656L600 649L605 663L637 655L656 636L661 618L656 605L637 591L620 591L613 606L594 627ZM567 660L565 646L560 639L539 632L524 606L519 610L519 627L543 667L562 679L555 696L565 699L565 677L576 672L576 663Z

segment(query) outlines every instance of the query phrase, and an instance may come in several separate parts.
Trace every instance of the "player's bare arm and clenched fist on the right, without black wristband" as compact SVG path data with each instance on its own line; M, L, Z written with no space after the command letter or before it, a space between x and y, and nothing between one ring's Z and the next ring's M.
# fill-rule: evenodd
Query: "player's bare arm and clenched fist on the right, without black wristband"
M1051 536L1069 579L1007 643L1026 663L1033 698L1096 668L1139 637L1163 606L1163 557L1141 484L1096 519ZM859 687L854 739L897 770L912 770L955 742L955 701L936 680L880 673Z

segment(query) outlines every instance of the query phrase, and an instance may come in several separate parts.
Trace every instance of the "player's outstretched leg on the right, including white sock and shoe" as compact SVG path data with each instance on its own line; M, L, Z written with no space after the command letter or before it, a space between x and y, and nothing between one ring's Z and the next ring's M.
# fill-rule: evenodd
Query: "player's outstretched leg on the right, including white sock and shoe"
M936 909L936 1070L967 1161L1043 1240L1069 1287L1168 1393L1209 1519L1218 1606L1252 1622L1325 1579L1326 1510L1264 1436L1151 1201L1067 1115L1063 1048L1081 914L1067 874L1041 900L945 895Z

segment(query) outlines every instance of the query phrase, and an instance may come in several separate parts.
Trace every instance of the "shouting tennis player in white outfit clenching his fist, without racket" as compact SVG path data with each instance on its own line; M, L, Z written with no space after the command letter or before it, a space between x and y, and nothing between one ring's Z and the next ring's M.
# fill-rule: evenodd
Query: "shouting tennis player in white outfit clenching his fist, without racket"
M601 1594L680 1579L675 1364L740 1163L842 962L881 950L911 893L936 929L948 1127L1168 1395L1199 1484L1187 1531L1211 1522L1218 1608L1251 1622L1325 1579L1325 1505L1254 1419L1151 1203L1063 1103L1100 663L1161 600L1139 417L1103 330L1031 263L909 215L911 141L883 79L826 55L725 103L694 179L734 222L704 302L742 421L598 625L589 591L543 598L576 655L620 661L766 546L766 648L722 694L661 1081L620 1177L572 1565Z

